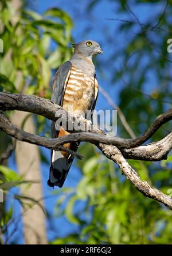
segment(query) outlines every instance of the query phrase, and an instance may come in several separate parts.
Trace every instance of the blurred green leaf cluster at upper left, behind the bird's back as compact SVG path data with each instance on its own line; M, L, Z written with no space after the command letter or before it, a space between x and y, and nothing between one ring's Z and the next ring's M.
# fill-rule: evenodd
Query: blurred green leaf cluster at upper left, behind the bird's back
M24 10L17 23L11 18L12 13L10 2L5 3L1 10L1 22L4 24L0 33L4 42L1 85L8 92L26 91L50 97L51 69L57 69L71 55L68 43L72 40L72 20L68 14L55 8L47 10L42 16ZM49 50L52 42L56 45L54 51ZM19 85L17 72L22 74Z

